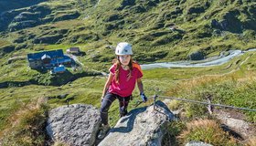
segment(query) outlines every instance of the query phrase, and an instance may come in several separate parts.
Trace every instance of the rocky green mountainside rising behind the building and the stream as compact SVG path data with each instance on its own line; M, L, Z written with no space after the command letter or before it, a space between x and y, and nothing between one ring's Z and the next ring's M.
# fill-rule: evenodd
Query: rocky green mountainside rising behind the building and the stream
M97 44L102 40L103 45L132 43L135 58L141 61L186 59L198 51L205 56L230 48L255 47L253 0L22 2L22 6L6 7L0 16L1 56L35 49L35 45ZM96 61L107 60L110 57Z

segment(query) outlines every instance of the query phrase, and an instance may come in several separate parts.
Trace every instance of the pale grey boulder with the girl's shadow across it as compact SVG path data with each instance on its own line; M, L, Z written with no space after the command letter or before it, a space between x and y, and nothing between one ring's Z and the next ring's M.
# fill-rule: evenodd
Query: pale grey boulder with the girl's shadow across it
M162 101L157 106L131 110L121 118L99 146L160 146L166 125L175 116Z

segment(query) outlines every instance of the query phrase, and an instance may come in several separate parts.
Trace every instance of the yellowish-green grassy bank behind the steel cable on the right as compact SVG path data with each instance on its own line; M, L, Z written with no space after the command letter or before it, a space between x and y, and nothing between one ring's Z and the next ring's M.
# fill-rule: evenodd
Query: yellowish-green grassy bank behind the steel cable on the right
M246 78L229 77L208 77L188 80L176 85L166 94L168 96L180 97L183 99L195 99L212 103L233 105L240 108L256 109L254 89L256 85L255 73L248 73ZM252 102L251 102L252 101ZM173 103L174 104L174 103ZM188 117L203 116L208 110L203 105L181 103L172 107L186 107ZM256 121L253 111L242 110L250 121Z

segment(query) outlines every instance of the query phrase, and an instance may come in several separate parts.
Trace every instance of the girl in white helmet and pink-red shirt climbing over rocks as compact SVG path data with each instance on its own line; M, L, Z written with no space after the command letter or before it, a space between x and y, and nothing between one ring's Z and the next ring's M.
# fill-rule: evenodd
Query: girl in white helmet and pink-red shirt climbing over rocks
M140 96L144 102L147 98L144 95L142 82L143 73L140 65L133 61L132 47L126 42L119 43L115 48L116 62L109 69L107 79L101 96L101 131L98 139L103 139L110 126L108 123L108 110L115 99L119 100L120 117L127 114L127 107L132 98L133 89L137 83Z

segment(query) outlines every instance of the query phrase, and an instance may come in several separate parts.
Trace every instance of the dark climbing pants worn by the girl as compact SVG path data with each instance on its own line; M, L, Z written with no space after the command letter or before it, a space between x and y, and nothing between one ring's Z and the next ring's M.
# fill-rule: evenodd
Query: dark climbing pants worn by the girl
M125 116L127 114L127 107L128 107L131 97L132 96L121 97L119 95L107 92L104 99L102 99L102 101L101 101L101 123L103 123L104 125L108 124L108 111L110 110L112 102L115 99L119 100L120 117Z

